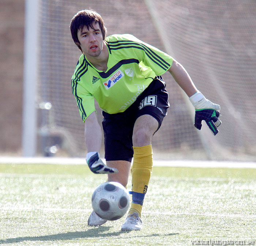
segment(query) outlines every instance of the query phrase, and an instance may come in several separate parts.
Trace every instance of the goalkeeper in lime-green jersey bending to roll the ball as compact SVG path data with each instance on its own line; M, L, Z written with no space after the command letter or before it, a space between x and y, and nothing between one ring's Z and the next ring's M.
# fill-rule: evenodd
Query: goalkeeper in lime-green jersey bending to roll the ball
M186 70L170 55L130 34L106 37L101 16L79 11L70 23L71 35L82 51L72 76L72 92L85 122L86 160L94 173L127 186L132 165L132 204L122 231L142 228L142 205L153 166L151 138L169 107L165 81L170 72L194 105L195 127L205 120L214 135L221 124L220 106L197 90ZM102 132L94 99L102 109L106 165L99 158ZM93 211L90 226L106 220Z

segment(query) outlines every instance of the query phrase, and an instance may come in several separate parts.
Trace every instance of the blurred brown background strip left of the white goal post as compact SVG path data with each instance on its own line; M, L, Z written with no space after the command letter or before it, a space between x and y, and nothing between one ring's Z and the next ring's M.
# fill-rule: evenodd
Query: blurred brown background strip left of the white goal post
M0 1L0 153L21 154L24 0Z

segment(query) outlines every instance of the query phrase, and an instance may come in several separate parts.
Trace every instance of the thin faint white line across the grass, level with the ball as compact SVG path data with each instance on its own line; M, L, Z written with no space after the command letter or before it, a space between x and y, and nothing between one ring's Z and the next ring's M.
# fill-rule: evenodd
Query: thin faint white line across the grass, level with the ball
M43 207L0 207L1 211L46 211L46 212L83 212L90 213L92 209L82 208L43 208ZM152 215L189 215L189 216L207 216L207 217L227 217L227 218L256 218L256 215L245 214L218 214L218 213L187 213L187 212L153 212L144 210L143 214Z

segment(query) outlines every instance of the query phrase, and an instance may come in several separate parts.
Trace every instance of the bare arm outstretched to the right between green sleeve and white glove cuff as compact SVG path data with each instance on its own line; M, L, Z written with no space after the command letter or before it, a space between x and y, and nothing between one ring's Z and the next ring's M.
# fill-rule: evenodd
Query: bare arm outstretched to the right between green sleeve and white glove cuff
M197 89L193 81L191 80L188 72L177 61L173 60L173 64L168 71L172 74L174 80L188 95L188 97L192 96L197 92Z

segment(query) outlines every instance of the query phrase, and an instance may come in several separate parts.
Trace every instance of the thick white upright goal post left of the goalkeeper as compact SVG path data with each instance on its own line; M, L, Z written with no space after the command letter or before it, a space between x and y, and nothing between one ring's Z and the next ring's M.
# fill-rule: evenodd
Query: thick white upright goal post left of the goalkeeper
M25 1L22 155L34 157L37 150L38 0Z

